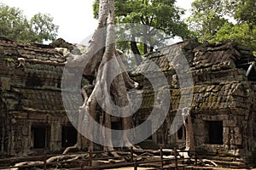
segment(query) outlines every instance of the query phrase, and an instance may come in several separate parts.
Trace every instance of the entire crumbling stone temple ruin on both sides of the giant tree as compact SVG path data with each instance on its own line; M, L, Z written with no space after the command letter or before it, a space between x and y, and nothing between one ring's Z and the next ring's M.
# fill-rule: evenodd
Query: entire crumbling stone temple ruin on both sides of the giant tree
M193 87L179 88L177 72L168 58L183 54L189 62ZM185 143L184 127L170 135L174 116L180 112L181 96L193 93L190 114L196 147L221 150L234 156L253 156L256 148L256 70L252 52L236 42L218 44L179 42L146 54L131 73L139 82L142 105L134 124L147 121L154 105L154 90L139 72L154 73L153 61L169 83L170 111L166 121L145 142L167 148ZM76 143L77 131L69 122L61 99L61 76L65 57L48 45L23 44L0 38L0 154L16 156L42 150L61 150ZM84 77L85 80L86 77ZM86 82L86 81L85 81ZM165 88L166 90L166 88ZM79 108L78 108L79 109ZM119 129L119 118L113 117ZM156 130L156 129L155 129ZM150 132L149 132L150 133Z

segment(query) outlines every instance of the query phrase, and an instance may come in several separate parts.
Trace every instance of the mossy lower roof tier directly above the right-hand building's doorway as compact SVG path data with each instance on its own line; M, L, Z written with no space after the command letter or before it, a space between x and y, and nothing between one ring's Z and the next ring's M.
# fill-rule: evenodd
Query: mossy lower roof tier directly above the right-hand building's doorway
M254 91L245 82L220 82L219 84L202 84L191 89L172 90L172 109L178 109L180 95L193 93L192 108L195 110L243 109L249 111L253 104ZM240 114L244 114L241 112Z

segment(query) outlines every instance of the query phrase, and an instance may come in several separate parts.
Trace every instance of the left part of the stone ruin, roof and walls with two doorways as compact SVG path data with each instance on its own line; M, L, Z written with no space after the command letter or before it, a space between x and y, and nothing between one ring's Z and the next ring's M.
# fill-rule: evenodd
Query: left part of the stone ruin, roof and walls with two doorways
M50 46L0 38L2 156L61 150L76 142L61 100L65 61Z

